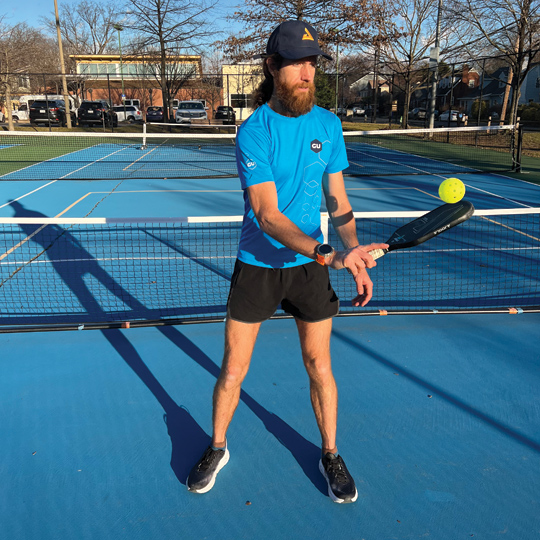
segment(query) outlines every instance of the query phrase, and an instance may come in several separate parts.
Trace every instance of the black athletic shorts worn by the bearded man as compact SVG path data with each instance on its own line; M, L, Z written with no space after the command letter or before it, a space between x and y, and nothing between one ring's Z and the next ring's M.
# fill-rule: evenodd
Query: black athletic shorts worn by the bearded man
M227 316L256 323L281 308L302 321L337 315L339 300L330 285L328 267L317 262L292 268L264 268L237 260L231 279Z

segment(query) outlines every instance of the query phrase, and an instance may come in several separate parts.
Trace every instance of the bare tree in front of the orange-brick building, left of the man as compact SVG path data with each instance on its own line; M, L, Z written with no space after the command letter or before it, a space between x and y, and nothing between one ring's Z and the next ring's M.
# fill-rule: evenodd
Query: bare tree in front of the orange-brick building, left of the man
M186 51L190 54L215 36L209 14L217 0L126 0L124 24L137 36L137 49L157 54L157 76L167 121L178 84L186 77L186 65L169 62ZM189 76L192 76L189 73Z

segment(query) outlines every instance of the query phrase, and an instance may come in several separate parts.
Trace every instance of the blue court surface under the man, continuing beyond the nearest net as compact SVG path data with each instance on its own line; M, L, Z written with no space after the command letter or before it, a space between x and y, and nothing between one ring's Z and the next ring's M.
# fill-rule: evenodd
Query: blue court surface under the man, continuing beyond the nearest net
M0 217L243 212L237 178L196 178L210 168L204 160L192 163L192 178L172 180L144 178L152 154L141 161L134 153L127 169L118 156L104 157L110 157L106 170L116 171L114 179L77 179L80 159L61 160L63 180L48 176L52 160L31 166L40 180L4 177ZM540 186L526 180L460 174L459 165L443 175L418 160L411 167L410 175L347 177L353 209L430 210L440 204L438 186L450 176L465 182L466 199L477 209L540 207ZM141 176L134 180L135 169ZM46 248L36 231L21 226L19 233L0 257L18 253L19 241ZM63 237L81 260L91 260L79 267L77 279L101 279L105 259L97 261L75 235ZM519 229L511 238L515 249L521 240L535 253L540 247L540 231ZM482 243L480 237L475 249ZM30 285L30 296L50 295L54 306L55 287L72 278L62 273L60 253L44 252L54 275ZM454 253L442 256L457 260ZM391 257L373 273L374 303L395 294L387 283L396 276L404 281L401 295L407 284L422 288L435 272L424 265L426 275L418 279ZM521 273L520 255L509 258L518 263L512 278ZM473 292L487 274L477 265ZM226 282L227 273L220 275ZM500 288L504 292L504 284ZM0 287L0 307L5 290ZM152 290L146 297L136 290L127 308L150 309ZM97 298L81 302L83 308L99 304ZM338 446L358 486L352 505L332 503L318 471L319 434L290 319L262 326L229 431L231 461L206 495L188 493L185 480L210 436L223 322L0 333L0 538L539 538L539 324L540 313L336 318Z

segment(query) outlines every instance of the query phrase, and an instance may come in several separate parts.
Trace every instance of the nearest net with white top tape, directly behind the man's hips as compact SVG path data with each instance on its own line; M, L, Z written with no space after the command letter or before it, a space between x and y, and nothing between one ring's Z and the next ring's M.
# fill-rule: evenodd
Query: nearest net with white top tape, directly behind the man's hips
M357 214L360 242L385 241L422 214ZM240 228L239 216L3 218L0 329L223 320ZM327 238L339 245L331 227ZM373 300L354 308L351 276L331 271L342 315L538 310L540 208L477 211L389 253L371 277Z

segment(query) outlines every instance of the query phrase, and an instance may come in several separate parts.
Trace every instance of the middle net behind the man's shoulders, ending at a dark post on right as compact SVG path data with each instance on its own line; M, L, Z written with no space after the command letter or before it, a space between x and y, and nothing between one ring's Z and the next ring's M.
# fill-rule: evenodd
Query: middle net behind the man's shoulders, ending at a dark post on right
M514 126L346 132L345 174L511 170L518 133ZM0 132L0 180L235 177L235 141L234 133Z

